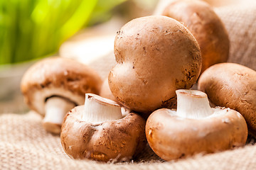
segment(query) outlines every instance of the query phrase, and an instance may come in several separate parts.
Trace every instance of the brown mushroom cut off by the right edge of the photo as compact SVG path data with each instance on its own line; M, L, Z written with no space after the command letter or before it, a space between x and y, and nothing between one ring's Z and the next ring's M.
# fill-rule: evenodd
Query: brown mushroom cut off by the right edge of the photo
M256 72L235 63L215 64L198 80L215 106L234 109L245 118L250 134L256 136Z

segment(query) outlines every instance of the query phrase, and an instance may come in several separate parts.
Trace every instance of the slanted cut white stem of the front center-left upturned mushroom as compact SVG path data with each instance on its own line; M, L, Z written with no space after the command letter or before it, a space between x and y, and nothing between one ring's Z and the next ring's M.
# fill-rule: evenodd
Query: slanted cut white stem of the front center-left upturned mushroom
M118 103L95 94L85 94L85 110L82 120L90 123L102 123L122 117L121 106Z

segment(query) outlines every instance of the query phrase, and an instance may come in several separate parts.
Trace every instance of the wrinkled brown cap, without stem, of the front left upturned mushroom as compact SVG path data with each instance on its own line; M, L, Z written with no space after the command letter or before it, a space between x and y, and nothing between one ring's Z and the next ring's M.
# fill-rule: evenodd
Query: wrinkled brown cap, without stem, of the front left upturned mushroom
M92 124L80 119L83 108L73 108L63 121L60 140L69 157L108 162L131 159L142 151L146 136L141 116L129 113L120 120Z

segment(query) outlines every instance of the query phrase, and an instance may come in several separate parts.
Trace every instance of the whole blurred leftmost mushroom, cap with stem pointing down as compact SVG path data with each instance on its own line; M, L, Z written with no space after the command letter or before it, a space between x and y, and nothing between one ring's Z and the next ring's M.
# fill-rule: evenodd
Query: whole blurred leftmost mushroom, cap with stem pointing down
M98 94L101 84L97 73L85 64L51 57L28 69L21 91L28 107L45 115L43 127L58 134L65 114L85 101L85 93Z

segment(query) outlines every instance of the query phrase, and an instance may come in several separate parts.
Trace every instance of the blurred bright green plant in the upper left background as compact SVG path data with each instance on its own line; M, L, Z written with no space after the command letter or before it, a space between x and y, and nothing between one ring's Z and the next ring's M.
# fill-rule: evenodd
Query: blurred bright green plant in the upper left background
M83 26L105 21L126 0L0 0L0 64L58 51Z

